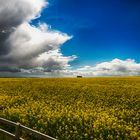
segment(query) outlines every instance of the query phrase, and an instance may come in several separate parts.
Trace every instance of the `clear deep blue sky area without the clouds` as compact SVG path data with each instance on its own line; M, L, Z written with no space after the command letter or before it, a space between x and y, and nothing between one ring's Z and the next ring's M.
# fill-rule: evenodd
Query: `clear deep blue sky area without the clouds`
M114 58L140 61L140 1L49 0L36 22L73 35L62 46L64 55L75 54L72 66L94 65Z

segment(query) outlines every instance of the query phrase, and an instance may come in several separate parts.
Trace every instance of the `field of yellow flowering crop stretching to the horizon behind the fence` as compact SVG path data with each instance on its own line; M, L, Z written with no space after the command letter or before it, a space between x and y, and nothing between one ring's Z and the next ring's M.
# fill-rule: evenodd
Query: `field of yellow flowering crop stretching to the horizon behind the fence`
M0 117L58 140L140 140L140 78L1 78Z

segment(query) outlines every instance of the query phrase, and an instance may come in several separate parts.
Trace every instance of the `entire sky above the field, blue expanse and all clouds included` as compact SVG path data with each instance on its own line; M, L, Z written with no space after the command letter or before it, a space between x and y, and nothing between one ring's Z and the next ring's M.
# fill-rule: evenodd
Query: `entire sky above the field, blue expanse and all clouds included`
M140 75L139 25L138 0L0 1L0 76Z

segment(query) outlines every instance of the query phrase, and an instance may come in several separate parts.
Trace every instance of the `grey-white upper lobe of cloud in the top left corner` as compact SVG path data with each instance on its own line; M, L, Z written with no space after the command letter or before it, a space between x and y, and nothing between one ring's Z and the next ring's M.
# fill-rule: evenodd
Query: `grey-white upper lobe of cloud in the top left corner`
M23 22L30 22L37 18L42 8L47 5L44 0L1 0L0 28L7 30Z

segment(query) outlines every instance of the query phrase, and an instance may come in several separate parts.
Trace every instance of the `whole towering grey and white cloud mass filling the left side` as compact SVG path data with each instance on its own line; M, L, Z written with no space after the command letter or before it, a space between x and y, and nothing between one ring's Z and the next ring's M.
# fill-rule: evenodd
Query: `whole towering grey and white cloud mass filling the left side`
M70 67L76 56L63 56L60 46L72 36L52 30L38 18L45 0L0 1L0 72L53 72Z

